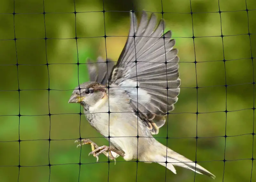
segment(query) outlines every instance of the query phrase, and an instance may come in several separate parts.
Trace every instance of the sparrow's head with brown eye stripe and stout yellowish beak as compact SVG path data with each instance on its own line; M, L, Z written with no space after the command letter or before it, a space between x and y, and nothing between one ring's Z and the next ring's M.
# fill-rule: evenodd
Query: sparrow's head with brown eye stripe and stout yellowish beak
M107 98L107 90L97 82L85 82L75 88L68 103L81 103L84 108L95 107Z

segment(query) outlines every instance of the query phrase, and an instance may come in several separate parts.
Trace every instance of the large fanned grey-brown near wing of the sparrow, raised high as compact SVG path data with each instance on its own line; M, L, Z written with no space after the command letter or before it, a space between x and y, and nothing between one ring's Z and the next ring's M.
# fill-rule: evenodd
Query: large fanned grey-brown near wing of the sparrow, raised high
M143 12L138 26L135 14L130 16L129 37L116 65L110 65L109 85L129 94L134 111L157 134L180 93L178 50L173 48L175 40L170 40L171 31L164 34L164 20L157 24L154 14L148 20Z

